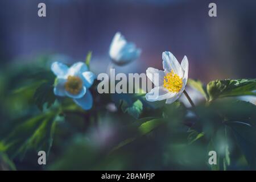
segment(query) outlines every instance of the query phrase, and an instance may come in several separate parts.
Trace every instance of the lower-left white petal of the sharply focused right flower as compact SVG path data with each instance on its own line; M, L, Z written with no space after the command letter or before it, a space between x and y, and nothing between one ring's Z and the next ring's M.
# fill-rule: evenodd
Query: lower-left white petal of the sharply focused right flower
M148 92L145 97L147 101L152 102L166 100L167 98L175 96L175 94L176 93L169 92L163 86L156 86L150 92Z

